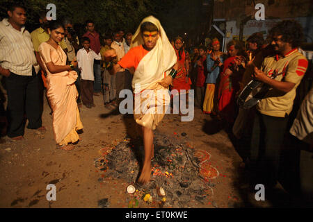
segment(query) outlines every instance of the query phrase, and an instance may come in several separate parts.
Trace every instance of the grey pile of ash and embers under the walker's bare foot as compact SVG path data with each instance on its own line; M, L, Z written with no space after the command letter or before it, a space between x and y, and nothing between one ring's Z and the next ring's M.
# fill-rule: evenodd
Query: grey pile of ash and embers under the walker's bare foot
M154 132L152 176L145 186L136 184L144 158L140 138L123 139L117 146L104 149L102 157L95 160L95 167L104 172L104 180L106 177L125 180L143 194L150 194L153 200L160 199L157 187L163 187L166 191L164 207L196 207L195 203L204 204L213 195L214 184L200 176L200 160L186 139L168 138Z

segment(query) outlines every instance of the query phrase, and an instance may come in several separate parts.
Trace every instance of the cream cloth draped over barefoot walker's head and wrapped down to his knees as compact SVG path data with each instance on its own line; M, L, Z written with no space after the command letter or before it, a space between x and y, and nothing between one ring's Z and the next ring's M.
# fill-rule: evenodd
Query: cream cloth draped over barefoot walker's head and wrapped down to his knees
M151 22L157 26L159 39L154 48L139 62L134 73L132 80L135 94L134 119L139 125L154 130L163 119L170 103L168 88L159 82L170 73L170 69L177 62L177 56L159 20L149 16L143 19L141 24L144 22ZM132 38L131 48L144 44L141 24Z

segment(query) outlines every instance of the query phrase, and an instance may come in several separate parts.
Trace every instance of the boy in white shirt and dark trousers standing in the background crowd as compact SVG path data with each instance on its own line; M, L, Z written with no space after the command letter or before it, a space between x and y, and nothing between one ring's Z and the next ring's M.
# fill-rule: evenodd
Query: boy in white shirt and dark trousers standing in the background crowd
M95 107L93 103L93 61L101 60L100 53L97 55L95 51L90 49L90 39L83 37L83 49L77 52L77 62L81 70L81 101L87 108Z

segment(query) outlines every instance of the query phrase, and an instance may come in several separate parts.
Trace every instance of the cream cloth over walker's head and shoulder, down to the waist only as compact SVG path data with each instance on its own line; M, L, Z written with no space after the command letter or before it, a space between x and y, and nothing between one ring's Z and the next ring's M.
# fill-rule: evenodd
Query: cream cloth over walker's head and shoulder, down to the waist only
M139 62L138 67L134 73L132 81L132 87L135 93L140 92L143 89L147 89L150 85L155 84L162 78L164 73L169 73L169 69L177 62L177 56L172 44L168 40L164 29L162 28L158 19L153 16L143 19L144 22L151 22L159 29L159 39L154 48L143 57ZM131 40L131 48L144 44L143 36L141 35L141 24L138 26L136 33ZM136 84L140 84L140 90L135 87Z

